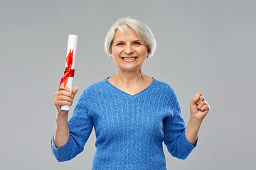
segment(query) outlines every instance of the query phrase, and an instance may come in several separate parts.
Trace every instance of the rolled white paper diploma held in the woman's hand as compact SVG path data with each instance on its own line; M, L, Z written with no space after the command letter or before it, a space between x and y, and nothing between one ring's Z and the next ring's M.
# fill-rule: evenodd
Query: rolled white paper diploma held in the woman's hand
M74 50L73 52L73 64L71 69L75 69L75 55L76 55L76 49L77 49L77 45L78 45L78 35L73 35L70 34L68 35L68 48L67 48L67 55L70 52L70 50ZM68 67L67 62L65 62L65 67ZM70 89L70 93L72 93L72 84L73 84L73 78L74 77L68 77L68 83L66 84L66 86L68 86L68 88ZM70 110L70 106L69 105L63 105L60 108L61 111L69 111Z

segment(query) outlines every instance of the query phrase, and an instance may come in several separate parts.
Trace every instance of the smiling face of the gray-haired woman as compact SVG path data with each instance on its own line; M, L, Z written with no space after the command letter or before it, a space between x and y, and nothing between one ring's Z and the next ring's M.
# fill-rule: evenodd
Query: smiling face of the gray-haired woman
M128 26L124 33L116 30L112 43L112 59L119 69L124 72L142 69L142 64L148 56L147 46L139 40L132 28Z

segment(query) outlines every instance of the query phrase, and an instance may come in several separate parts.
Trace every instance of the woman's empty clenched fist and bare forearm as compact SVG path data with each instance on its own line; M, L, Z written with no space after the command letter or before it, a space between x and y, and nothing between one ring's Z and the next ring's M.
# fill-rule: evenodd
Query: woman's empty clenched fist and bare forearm
M206 102L205 98L202 96L201 92L198 92L194 96L190 103L191 116L186 126L186 138L188 142L192 145L196 145L196 140L198 138L198 131L203 122L203 118L206 117L207 113L210 111L210 106Z

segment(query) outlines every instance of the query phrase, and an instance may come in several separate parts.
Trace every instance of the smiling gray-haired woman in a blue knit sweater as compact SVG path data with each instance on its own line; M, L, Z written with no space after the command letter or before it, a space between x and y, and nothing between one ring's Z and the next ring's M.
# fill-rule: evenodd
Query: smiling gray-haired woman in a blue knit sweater
M198 130L209 111L198 92L191 100L188 125L174 89L142 74L142 64L154 55L156 40L137 18L121 18L110 28L105 50L117 65L112 77L88 86L73 115L60 106L73 103L78 88L60 86L55 93L56 125L52 151L59 162L82 152L95 128L97 147L92 169L166 169L162 143L172 156L186 159L196 147Z

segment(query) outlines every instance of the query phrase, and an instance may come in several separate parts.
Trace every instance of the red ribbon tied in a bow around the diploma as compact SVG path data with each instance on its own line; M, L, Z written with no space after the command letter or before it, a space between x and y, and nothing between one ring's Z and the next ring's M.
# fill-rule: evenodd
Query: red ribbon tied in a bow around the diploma
M64 86L68 83L68 77L74 77L75 69L71 69L73 64L73 52L74 50L68 53L68 56L66 57L67 66L65 67L64 76L60 80L60 84L64 83Z

